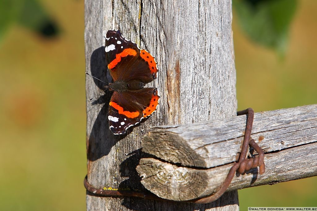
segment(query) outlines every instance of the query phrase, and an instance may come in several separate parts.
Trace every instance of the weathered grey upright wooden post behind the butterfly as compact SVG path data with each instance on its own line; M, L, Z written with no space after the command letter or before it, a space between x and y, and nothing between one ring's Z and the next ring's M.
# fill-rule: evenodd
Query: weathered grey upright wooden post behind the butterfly
M236 115L231 1L85 0L86 71L110 82L104 56L107 30L120 29L158 63L157 113L127 135L110 133L111 93L87 101L87 174L94 187L144 190L135 168L142 137L153 125L184 124ZM87 99L103 84L86 79ZM103 104L105 103L105 104ZM210 204L104 198L87 194L87 210L238 210L237 192Z

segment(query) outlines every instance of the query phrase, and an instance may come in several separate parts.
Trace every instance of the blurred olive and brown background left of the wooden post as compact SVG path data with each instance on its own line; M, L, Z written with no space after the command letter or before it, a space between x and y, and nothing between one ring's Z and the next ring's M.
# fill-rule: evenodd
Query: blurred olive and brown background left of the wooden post
M0 210L85 210L84 2L0 2Z

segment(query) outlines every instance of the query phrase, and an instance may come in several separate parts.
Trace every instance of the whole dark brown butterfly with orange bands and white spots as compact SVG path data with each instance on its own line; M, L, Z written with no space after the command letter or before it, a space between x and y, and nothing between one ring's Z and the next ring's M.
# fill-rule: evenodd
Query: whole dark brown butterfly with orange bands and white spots
M143 88L156 78L156 61L150 53L126 40L118 30L106 34L106 58L113 83L109 103L109 128L115 135L150 116L159 104L157 88Z

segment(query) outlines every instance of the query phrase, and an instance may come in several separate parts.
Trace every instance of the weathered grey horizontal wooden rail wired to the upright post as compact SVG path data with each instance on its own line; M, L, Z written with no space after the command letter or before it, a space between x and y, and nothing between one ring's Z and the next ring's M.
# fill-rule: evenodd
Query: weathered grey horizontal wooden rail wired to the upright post
M137 166L141 183L170 200L214 193L237 160L245 122L243 115L151 131L143 150L177 165L142 158ZM317 175L317 104L256 113L251 137L266 154L266 172L259 175L255 168L237 175L228 190Z

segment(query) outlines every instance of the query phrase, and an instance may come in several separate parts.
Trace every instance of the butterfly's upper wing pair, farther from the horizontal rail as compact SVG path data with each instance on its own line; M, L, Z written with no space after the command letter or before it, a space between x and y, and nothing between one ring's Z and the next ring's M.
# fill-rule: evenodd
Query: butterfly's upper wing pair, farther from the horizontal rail
M147 84L156 78L158 69L154 57L126 40L119 30L107 32L105 51L113 81L139 80Z

